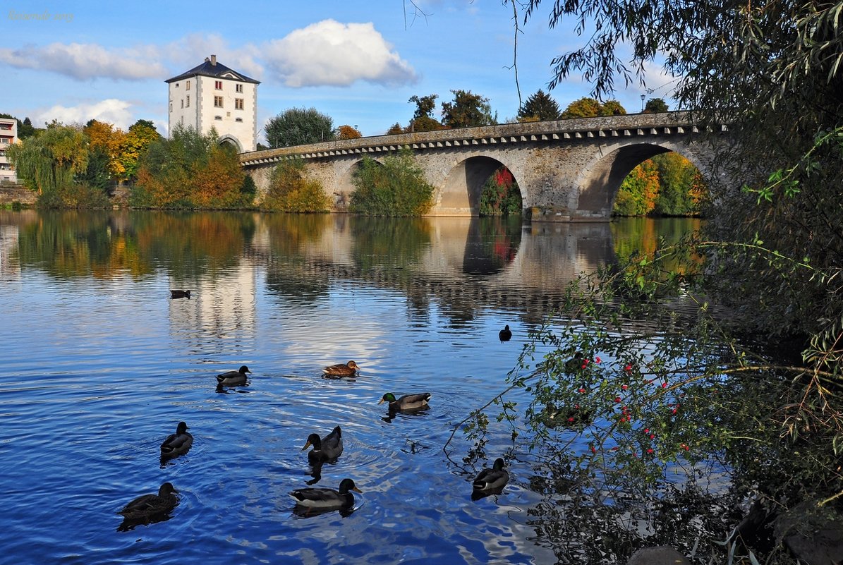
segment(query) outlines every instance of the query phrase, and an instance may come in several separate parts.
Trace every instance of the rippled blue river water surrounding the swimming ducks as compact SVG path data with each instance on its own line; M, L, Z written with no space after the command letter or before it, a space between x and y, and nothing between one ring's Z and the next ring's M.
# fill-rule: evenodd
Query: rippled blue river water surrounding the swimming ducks
M470 465L443 444L568 282L696 227L0 211L0 562L556 562L534 457L472 500L512 443L492 423ZM351 359L357 378L321 377ZM243 364L248 385L217 390ZM385 392L430 392L430 408L389 417ZM193 446L162 462L180 421ZM345 450L317 473L302 447L337 425ZM294 512L288 492L345 477L350 511ZM180 498L167 519L119 531L163 482Z

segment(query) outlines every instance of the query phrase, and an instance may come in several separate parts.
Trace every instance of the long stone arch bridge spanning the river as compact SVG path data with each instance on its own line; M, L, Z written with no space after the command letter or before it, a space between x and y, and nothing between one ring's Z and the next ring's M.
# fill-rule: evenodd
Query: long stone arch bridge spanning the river
M714 178L712 143L725 125L702 132L685 112L534 121L403 133L241 153L240 162L266 191L271 169L304 159L311 178L347 210L352 175L364 157L379 160L410 148L436 188L432 216L476 216L483 183L501 165L509 169L533 220L608 220L620 182L646 159L674 151ZM715 135L705 135L705 134Z

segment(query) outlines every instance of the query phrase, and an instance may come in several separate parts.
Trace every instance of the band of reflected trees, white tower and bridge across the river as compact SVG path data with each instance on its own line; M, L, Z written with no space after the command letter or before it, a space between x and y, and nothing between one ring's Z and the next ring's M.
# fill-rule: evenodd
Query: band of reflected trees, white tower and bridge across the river
M688 223L658 225L678 239ZM218 332L254 324L257 268L273 296L294 304L324 302L331 282L347 281L403 293L419 317L436 304L454 327L488 307L538 322L579 273L658 239L645 218L522 227L502 218L26 211L0 212L0 226L3 272L16 263L58 278L165 269L171 288L193 291L193 305L174 310L174 328Z

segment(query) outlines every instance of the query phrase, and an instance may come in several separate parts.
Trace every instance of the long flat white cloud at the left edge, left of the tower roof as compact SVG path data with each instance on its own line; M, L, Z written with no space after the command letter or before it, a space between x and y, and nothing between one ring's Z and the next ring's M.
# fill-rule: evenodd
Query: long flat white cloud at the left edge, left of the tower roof
M158 49L153 46L109 51L92 43L30 45L0 49L0 62L12 67L52 71L79 80L99 77L142 80L164 78L167 74L158 62Z

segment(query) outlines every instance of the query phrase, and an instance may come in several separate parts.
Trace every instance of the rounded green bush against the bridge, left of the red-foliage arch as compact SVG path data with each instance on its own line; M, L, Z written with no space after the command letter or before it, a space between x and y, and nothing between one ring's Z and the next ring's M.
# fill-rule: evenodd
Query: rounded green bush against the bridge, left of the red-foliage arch
M421 216L433 204L433 187L410 151L391 154L379 164L364 158L354 173L349 210L368 216Z

